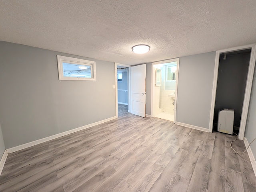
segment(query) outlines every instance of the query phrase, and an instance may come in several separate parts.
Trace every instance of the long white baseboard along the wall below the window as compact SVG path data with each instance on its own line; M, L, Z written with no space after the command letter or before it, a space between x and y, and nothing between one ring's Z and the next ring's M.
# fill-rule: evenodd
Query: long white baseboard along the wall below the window
M40 143L44 143L46 141L50 141L52 139L56 139L58 137L62 137L64 135L68 135L70 133L74 133L76 131L80 131L80 130L83 130L83 129L87 129L89 127L92 127L92 126L95 126L95 125L99 125L101 123L105 123L107 121L110 121L110 120L114 120L116 119L116 116L112 117L112 118L108 118L106 120L102 120L102 121L98 121L98 122L95 122L95 123L91 123L89 125L84 125L82 127L78 127L78 128L75 128L75 129L71 129L69 131L65 131L65 132L62 132L62 133L58 133L56 135L52 135L52 136L49 136L49 137L45 137L45 138L42 138L42 139L38 139L36 141L32 141L32 142L29 142L29 143L25 143L25 144L22 144L22 145L19 145L19 146L16 146L16 147L12 147L10 149L6 149L7 150L7 153L13 153L15 151L19 151L19 150L22 150L22 149L26 149L28 147L32 147L34 145L38 145Z

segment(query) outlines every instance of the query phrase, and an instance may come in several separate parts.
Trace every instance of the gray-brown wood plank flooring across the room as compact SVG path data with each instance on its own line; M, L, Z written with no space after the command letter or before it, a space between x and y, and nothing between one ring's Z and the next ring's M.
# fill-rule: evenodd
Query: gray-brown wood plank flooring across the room
M255 192L248 154L236 138L119 105L119 118L8 155L0 191ZM238 151L243 141L235 141Z

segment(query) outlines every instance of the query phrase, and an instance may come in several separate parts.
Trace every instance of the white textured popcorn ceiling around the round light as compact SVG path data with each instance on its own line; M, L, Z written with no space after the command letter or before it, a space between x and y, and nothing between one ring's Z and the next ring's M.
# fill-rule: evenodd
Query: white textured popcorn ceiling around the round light
M256 43L255 19L256 0L0 0L0 41L134 65Z

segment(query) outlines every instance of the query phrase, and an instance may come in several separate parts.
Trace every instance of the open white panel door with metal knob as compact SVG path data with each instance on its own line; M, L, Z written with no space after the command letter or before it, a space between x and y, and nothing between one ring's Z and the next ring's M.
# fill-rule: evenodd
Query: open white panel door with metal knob
M131 67L131 113L146 115L146 64Z

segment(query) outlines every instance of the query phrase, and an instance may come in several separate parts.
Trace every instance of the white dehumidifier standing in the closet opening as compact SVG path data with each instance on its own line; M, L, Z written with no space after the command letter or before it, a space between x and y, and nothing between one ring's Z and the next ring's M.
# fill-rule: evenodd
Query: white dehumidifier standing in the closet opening
M233 135L234 110L224 109L219 111L218 115L218 131Z

